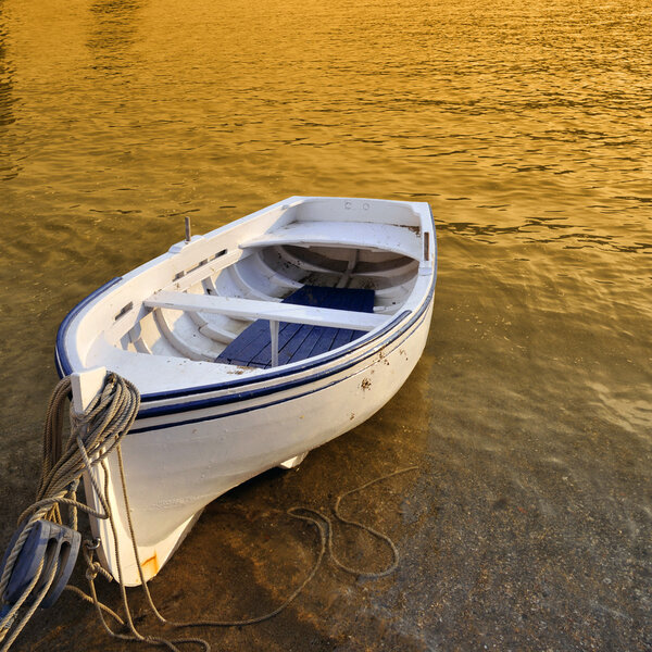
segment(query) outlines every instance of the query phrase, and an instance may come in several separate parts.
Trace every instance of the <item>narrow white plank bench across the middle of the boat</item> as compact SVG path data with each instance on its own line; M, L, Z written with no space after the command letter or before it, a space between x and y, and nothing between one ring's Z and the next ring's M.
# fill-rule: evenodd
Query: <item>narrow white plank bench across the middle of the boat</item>
M312 324L333 328L353 328L355 330L373 330L387 322L386 316L374 313L253 301L236 297L187 294L186 292L165 290L152 294L143 301L143 304L147 308L201 311L248 319L274 319L291 324Z

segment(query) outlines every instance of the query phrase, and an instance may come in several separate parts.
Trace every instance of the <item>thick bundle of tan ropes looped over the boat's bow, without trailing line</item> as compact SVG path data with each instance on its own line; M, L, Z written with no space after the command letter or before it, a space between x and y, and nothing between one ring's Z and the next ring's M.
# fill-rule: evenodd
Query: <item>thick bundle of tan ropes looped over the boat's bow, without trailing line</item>
M3 560L0 576L0 599L3 606L0 612L0 652L7 652L21 630L25 627L34 612L48 597L50 589L55 591L52 601L59 594L59 582L65 582L72 572L72 564L60 567L63 560L62 542L78 547L80 539L77 532L77 510L97 518L106 518L108 514L77 501L76 492L79 479L86 472L90 474L93 463L108 455L131 427L140 405L140 394L136 387L117 374L110 373L104 379L102 391L93 398L87 410L75 414L71 404L71 435L66 447L62 450L63 409L72 390L71 378L63 378L54 388L43 431L43 455L41 477L35 502L21 514L18 532L11 543ZM90 462L93 457L93 462ZM105 505L105 501L102 503ZM61 517L61 505L68 506L68 525L64 526ZM32 535L36 536L36 540ZM45 538L45 539L43 539ZM37 554L41 555L38 568L30 570L29 560L21 557L27 541ZM53 543L53 547L50 547ZM72 553L71 553L72 554ZM75 550L76 555L76 550ZM18 560L21 564L18 564ZM14 570L34 575L13 578ZM43 574L47 573L47 577ZM65 576L60 576L65 573ZM12 578L14 585L12 587ZM58 587L53 584L57 581ZM33 595L36 587L42 584L38 593ZM24 585L24 588L22 588ZM22 590L21 590L22 589ZM20 594L16 594L20 591ZM28 610L18 618L20 610L25 605Z

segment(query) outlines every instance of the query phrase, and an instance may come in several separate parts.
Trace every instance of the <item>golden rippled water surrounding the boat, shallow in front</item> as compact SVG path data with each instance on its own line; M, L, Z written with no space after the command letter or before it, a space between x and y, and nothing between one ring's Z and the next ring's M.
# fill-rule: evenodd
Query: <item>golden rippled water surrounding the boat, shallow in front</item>
M396 575L326 565L216 648L650 650L651 21L643 0L0 0L2 541L80 298L185 215L428 201L436 309L408 385L216 501L155 594L179 618L273 607L316 550L285 509L416 464L348 507L394 538ZM16 649L123 649L61 604Z

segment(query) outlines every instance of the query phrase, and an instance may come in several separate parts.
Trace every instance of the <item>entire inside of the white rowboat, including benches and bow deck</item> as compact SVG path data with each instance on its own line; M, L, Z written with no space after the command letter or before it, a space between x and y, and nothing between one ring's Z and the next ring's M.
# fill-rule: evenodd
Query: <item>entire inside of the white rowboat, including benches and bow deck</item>
M195 236L84 313L71 366L155 392L344 349L423 300L430 220L426 204L290 198Z

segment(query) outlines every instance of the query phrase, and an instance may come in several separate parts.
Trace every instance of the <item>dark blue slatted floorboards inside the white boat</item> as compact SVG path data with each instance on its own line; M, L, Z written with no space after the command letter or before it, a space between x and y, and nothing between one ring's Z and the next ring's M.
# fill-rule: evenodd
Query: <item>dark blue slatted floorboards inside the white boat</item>
M374 290L303 286L283 303L374 312ZM364 330L309 324L278 324L278 364L289 364L331 351L364 335ZM267 368L272 365L269 322L256 319L215 359L215 362Z

